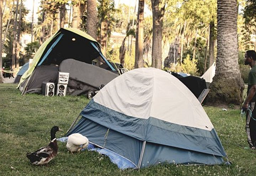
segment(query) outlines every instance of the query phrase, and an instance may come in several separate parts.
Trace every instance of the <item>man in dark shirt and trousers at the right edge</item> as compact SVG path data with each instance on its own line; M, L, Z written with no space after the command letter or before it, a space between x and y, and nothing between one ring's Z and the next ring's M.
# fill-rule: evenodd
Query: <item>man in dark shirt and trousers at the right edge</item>
M248 50L244 55L244 64L250 65L248 75L247 97L242 109L246 109L246 134L247 141L252 149L256 149L256 52Z

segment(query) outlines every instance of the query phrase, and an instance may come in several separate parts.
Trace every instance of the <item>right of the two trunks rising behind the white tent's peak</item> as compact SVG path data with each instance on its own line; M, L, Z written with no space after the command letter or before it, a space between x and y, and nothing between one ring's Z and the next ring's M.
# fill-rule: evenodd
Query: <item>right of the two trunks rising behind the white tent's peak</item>
M153 13L152 67L162 69L163 16L165 6L160 8L160 0L151 0L151 4Z

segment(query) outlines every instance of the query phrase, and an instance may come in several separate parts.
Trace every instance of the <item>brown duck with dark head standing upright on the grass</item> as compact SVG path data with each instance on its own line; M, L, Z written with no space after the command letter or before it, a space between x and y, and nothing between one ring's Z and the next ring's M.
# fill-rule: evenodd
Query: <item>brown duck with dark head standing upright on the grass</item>
M33 165L46 165L48 164L58 153L58 144L56 141L56 132L63 131L58 126L54 126L51 129L51 141L50 143L38 149L36 152L27 153L26 157L29 158Z

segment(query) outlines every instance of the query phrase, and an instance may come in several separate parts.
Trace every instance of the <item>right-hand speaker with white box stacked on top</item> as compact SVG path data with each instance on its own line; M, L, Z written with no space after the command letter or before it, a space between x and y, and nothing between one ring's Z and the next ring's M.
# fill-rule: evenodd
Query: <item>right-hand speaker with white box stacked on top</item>
M66 96L69 83L69 73L59 72L56 95L60 97Z

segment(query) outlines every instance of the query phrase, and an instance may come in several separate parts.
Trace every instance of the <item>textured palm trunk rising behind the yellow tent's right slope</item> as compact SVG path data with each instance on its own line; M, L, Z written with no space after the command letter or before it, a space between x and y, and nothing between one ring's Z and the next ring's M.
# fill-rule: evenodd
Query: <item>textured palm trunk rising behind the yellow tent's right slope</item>
M86 32L95 40L97 39L97 23L97 2L96 0L87 0Z

